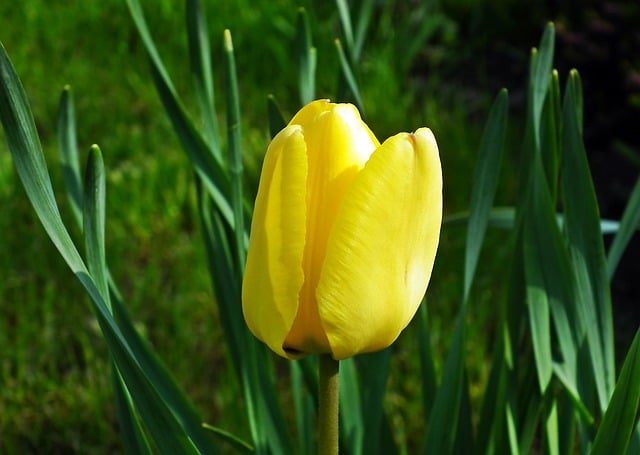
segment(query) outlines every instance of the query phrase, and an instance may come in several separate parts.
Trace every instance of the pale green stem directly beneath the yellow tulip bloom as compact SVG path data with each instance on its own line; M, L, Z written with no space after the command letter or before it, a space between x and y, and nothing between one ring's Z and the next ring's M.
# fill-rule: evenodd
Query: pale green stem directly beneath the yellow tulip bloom
M340 362L331 354L320 357L318 390L318 454L338 453L338 369Z

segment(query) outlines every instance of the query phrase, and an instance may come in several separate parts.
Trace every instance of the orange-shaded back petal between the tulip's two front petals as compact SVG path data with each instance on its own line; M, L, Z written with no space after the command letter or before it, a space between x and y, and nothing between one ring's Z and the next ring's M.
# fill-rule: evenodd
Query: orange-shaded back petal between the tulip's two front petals
M300 122L307 144L307 231L302 267L305 281L291 332L288 352L329 352L318 313L315 289L324 262L327 240L344 196L378 141L350 104L316 101L300 110L291 124Z

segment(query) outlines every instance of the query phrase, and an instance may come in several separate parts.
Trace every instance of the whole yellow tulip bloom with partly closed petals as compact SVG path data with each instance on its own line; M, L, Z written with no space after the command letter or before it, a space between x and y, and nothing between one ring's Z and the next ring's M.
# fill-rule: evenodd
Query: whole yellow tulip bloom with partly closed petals
M424 296L441 221L429 129L380 145L354 106L308 104L264 159L242 287L249 329L287 358L389 346Z

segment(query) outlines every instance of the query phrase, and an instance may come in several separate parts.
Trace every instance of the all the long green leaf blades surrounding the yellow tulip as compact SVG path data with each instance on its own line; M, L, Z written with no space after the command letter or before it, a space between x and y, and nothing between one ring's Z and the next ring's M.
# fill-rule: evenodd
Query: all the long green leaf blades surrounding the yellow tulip
M347 3L336 4L342 39L336 40L335 70L342 76L335 92L355 99L363 107L367 100L365 86L361 90L356 76L366 59L365 38L374 2L361 3L355 23ZM243 125L247 120L240 112L247 109L248 102L240 96L242 78L239 81L238 74L243 72L236 67L231 34L224 33L221 40L224 63L217 65L217 61L210 60L212 46L204 12L197 0L186 2L185 47L189 49L193 92L191 98L185 96L183 100L179 93L184 87L173 82L182 80L182 75L171 78L168 68L174 65L165 65L164 53L154 41L153 28L147 23L141 4L138 0L127 0L127 5L149 62L155 90L195 176L193 205L202 236L198 242L204 245L222 326L222 333L209 340L214 343L215 338L216 351L220 351L215 377L231 371L233 376L227 380L236 384L211 393L218 397L228 393L234 401L241 400L244 415L217 416L213 424L203 425L207 418L202 417L189 394L160 360L163 356L156 355L134 325L122 297L127 289L122 292L116 287L117 280L107 267L105 230L112 218L106 216L108 178L102 152L97 146L91 147L82 178L75 106L68 88L60 100L58 141L63 180L78 226L65 223L26 94L4 48L0 53L0 120L9 150L45 231L91 298L91 309L112 365L122 446L127 453L217 453L226 447L241 452L309 453L316 444L315 359L286 364L275 359L250 335L242 318L241 281L251 201L246 196L248 182L244 168L244 161L250 157L242 153L247 141L247 128ZM292 58L297 59L299 71L295 74L303 103L317 96L319 58L305 11L299 10L297 18L292 16L297 26L291 26L290 30L297 50ZM388 10L383 7L380 13L388 14ZM416 40L426 39L429 30L422 30ZM639 193L636 188L622 221L614 226L619 228L618 234L607 257L602 240L603 220L582 142L579 76L572 71L561 93L558 75L552 70L553 47L554 28L550 24L539 50L534 50L531 56L520 187L514 193L517 197L506 201L512 207L494 208L502 156L515 152L510 143L515 141L506 139L508 96L501 91L480 141L468 212L451 214L445 222L443 247L447 246L446 237L451 231L461 224L467 228L464 273L456 273L454 284L461 290L461 305L455 315L448 352L441 356L444 360L438 356L438 349L433 349L437 323L427 317L425 305L417 317L416 330L408 331L413 347L417 344L418 350L409 354L405 351L404 355L413 357L417 353L413 366L417 364L416 370L422 372L418 389L422 394L419 407L423 408L424 440L407 441L394 425L394 415L388 406L389 384L395 375L394 354L403 353L400 349L387 349L342 363L343 453L398 453L408 446L412 451L424 453L570 454L576 448L581 453L612 450L624 453L627 447L629 450L639 447L636 414L640 397L640 332L636 333L616 381L609 290L617 260L637 229ZM408 65L398 74L406 71ZM212 66L224 74L226 141L218 126ZM284 105L295 106L295 101L285 98ZM190 99L197 106L194 109L197 115L186 107ZM269 98L267 106L273 135L287 117L274 97ZM265 121L265 130L266 124ZM443 161L446 164L444 156ZM446 172L445 166L445 179ZM490 234L488 228L495 226L508 229L508 239L502 241L509 247L511 275L508 280L496 280L503 291L498 304L487 310L494 313L495 324L493 355L487 366L490 371L486 381L474 386L469 379L470 362L466 356L472 330L467 321L474 307L486 303L474 293L473 283L476 280L476 287L479 286L478 264L482 264L483 245ZM84 255L73 240L74 228L82 232ZM441 249L440 257L445 255ZM185 272L191 272L190 269L187 267ZM460 276L464 279L460 280ZM436 271L434 280L437 277ZM401 344L408 339L405 336ZM209 359L191 358L185 365L198 361ZM290 397L282 393L287 389L282 386L283 380L290 381ZM479 410L472 387L482 389L476 394L483 400ZM283 395L292 403L290 409L283 405Z

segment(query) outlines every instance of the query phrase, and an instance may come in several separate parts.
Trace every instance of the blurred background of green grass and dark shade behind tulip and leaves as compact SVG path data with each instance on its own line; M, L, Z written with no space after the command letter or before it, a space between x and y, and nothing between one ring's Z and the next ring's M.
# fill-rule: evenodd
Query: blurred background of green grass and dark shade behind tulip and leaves
M352 3L356 14L360 2ZM318 49L317 96L345 101L334 39L333 2L203 0L223 112L222 32L233 35L240 83L248 192L255 191L269 141L266 97L288 118L299 107L294 35L305 7ZM145 13L187 109L190 90L184 5L146 2ZM556 24L555 66L564 83L577 68L584 132L601 215L619 219L640 173L640 4L624 0L442 0L375 3L354 64L364 118L383 140L432 128L445 175L446 214L465 210L470 176L491 101L509 89L508 146L497 203L515 200L527 65L548 21ZM195 191L121 0L0 2L0 41L34 112L63 217L73 226L56 150L57 104L65 84L76 102L81 151L100 145L107 167L107 259L139 329L207 421L247 433L226 366L216 306L198 232ZM221 121L223 119L220 119ZM0 452L117 453L107 352L85 294L35 217L0 132ZM79 236L76 230L73 232ZM445 226L428 291L436 357L448 349L461 299L464 229ZM625 352L640 323L630 244L614 278L616 337ZM490 231L469 315L469 379L486 380L492 307L508 277L509 245ZM420 385L411 327L395 347L386 406L398 437L419 441ZM283 390L286 390L286 378ZM473 392L473 389L472 389ZM477 397L472 396L472 400ZM286 400L286 394L284 399Z

